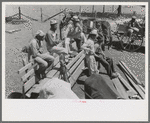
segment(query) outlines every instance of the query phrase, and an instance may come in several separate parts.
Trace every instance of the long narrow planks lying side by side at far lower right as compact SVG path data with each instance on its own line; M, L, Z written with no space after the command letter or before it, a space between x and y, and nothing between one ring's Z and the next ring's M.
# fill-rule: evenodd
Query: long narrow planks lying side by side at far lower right
M119 65L121 67L121 70L125 74L126 78L128 79L128 82L125 82L124 79L120 78L120 81L132 92L137 93L137 95L144 99L145 97L145 84L140 82L137 77L131 72L131 70L128 68L128 66L123 62L119 61Z

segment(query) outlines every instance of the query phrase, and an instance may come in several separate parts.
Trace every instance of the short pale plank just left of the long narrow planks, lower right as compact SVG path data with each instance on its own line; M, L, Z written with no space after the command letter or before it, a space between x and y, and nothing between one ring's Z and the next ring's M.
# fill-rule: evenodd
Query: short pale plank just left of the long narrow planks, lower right
M120 75L118 74L118 79L120 80L120 82L126 86L126 88L128 88L129 91L133 92L133 94L137 94L137 92L132 88L132 86Z

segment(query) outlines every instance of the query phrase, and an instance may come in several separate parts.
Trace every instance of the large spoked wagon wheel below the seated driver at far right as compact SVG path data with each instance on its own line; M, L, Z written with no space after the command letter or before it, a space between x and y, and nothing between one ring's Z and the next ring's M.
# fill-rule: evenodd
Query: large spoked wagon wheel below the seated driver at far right
M121 37L121 47L122 49L126 50L126 51L137 51L143 43L143 36L142 35L136 35L133 33L132 37L131 37L131 41L129 40L129 37L127 36L127 33L125 33L122 37Z

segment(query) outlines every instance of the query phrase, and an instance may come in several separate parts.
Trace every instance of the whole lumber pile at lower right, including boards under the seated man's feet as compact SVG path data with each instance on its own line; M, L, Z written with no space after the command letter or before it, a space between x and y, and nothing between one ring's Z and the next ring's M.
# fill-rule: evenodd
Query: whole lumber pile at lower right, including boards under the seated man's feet
M124 62L119 61L119 65L122 72L125 74L125 77L127 77L127 80L124 79L119 73L117 73L117 78L111 80L109 76L104 73L106 70L103 66L100 68L100 75L106 80L108 85L111 85L113 90L115 89L115 91L118 92L121 99L144 99L144 83L141 83L135 77Z

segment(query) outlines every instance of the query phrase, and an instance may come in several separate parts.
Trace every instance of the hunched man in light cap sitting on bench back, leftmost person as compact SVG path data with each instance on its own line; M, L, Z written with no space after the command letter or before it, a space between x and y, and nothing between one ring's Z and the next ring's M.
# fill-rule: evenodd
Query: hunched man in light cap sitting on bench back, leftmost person
M49 53L43 53L42 41L44 40L45 34L43 31L38 30L35 38L30 41L29 47L33 59L39 64L40 68L36 72L38 78L40 74L44 78L45 70L54 62L54 57L49 55Z

